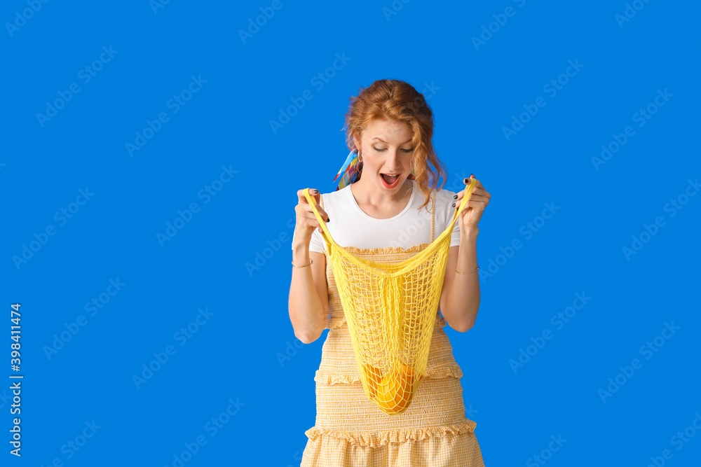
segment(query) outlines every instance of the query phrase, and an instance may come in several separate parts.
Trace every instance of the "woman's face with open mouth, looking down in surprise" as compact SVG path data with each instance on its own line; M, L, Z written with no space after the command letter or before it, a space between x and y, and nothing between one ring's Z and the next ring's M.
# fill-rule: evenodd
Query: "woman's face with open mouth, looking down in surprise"
M411 128L397 120L370 120L362 131L362 181L384 193L397 193L414 170ZM358 141L355 141L358 146Z

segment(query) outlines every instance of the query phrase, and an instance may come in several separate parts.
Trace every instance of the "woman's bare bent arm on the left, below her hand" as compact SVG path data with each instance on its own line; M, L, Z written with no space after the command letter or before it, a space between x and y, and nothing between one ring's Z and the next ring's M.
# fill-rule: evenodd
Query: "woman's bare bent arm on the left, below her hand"
M299 238L299 235L297 235ZM294 336L305 344L317 340L326 328L329 317L329 295L326 284L326 256L309 251L308 242L296 242L292 249L290 299L287 303Z

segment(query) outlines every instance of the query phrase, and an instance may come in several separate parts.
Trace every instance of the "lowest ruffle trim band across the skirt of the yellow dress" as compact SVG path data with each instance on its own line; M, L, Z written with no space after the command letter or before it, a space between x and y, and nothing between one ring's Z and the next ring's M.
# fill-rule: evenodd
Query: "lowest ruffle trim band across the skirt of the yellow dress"
M305 431L304 434L306 434L310 440L315 440L321 436L331 436L332 438L346 440L353 446L379 447L387 445L390 442L418 441L430 437L445 436L448 433L461 435L464 433L474 432L475 426L477 426L477 423L468 419L465 419L465 421L461 423L452 425L431 426L429 428L397 429L392 431L383 431L381 433L350 433L348 431L341 430L325 430L323 428L313 426Z

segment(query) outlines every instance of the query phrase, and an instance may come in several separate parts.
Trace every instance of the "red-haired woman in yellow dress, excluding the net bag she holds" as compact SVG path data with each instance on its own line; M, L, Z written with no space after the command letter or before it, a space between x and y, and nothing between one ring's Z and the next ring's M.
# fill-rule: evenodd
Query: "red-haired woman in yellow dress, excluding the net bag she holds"
M346 142L358 162L335 192L309 190L336 243L355 256L395 263L448 227L465 190L437 187L438 176L447 177L432 137L433 112L404 81L375 81L351 97ZM329 329L314 378L316 423L306 431L301 467L484 466L476 424L465 417L463 373L443 327L464 333L475 324L477 223L491 195L477 181L451 232L426 377L400 414L383 412L365 395L320 224L304 190L297 196L290 321L305 343Z

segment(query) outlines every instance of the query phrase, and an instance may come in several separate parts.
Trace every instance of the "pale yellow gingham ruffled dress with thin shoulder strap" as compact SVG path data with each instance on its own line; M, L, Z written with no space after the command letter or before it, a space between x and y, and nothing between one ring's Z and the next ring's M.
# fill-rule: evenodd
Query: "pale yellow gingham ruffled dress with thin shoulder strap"
M345 248L355 256L398 263L428 245L424 243L409 249L395 246ZM329 333L314 378L316 420L315 426L305 432L308 440L301 467L484 467L475 436L475 421L465 417L460 383L463 372L443 330L447 323L440 312L436 310L426 377L405 412L386 414L362 389L351 335L329 261L326 277Z

